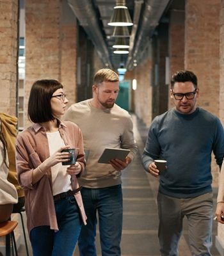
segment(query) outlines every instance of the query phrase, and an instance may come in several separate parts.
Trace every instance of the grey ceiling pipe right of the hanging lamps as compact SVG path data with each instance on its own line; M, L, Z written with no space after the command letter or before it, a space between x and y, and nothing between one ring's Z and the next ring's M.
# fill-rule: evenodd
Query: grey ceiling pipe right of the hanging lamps
M141 16L141 25L139 26L138 35L134 44L134 49L126 63L127 68L132 69L132 60L138 60L138 56L140 56L140 52L142 51L141 49L143 49L145 40L152 36L154 29L156 28L157 24L159 24L159 20L161 19L161 16L163 15L163 12L169 2L170 0L146 1L143 15Z

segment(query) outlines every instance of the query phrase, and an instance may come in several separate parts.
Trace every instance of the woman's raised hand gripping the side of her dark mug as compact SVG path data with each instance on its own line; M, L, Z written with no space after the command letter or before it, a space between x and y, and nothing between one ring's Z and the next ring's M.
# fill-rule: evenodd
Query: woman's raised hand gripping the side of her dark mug
M70 148L70 145L59 148L52 156L48 157L44 163L47 165L47 168L54 166L58 163L67 162L70 159L69 152L61 152L63 149Z

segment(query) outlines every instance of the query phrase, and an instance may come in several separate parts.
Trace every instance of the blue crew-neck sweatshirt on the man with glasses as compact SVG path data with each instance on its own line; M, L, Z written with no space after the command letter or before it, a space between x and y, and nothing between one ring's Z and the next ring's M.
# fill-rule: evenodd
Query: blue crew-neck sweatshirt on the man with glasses
M202 108L190 115L170 109L156 116L148 131L141 162L167 161L159 177L159 192L176 198L189 198L212 191L211 153L221 167L224 132L220 120Z

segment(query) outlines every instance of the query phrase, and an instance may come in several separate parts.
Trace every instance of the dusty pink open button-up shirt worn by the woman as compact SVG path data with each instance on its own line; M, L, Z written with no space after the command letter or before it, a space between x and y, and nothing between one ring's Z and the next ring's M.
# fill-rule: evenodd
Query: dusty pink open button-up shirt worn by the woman
M65 145L78 149L76 161L84 171L83 136L79 127L72 122L61 122L59 132ZM32 184L33 170L49 157L49 145L45 128L40 124L33 124L28 129L20 132L16 141L16 166L20 186L25 191L25 208L27 214L28 232L37 226L47 225L53 230L58 230L54 200L52 196L51 168L36 184ZM72 189L79 187L76 175L71 178ZM74 195L81 212L81 217L86 225L81 193Z

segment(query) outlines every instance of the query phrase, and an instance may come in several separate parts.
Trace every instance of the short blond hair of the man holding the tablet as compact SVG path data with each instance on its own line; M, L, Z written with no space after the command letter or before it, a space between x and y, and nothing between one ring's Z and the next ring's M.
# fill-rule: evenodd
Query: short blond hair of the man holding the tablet
M102 68L97 71L93 78L93 84L99 86L102 82L118 82L119 77L116 72L109 68Z

